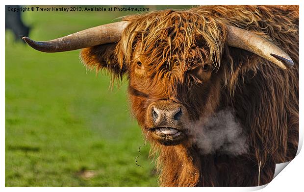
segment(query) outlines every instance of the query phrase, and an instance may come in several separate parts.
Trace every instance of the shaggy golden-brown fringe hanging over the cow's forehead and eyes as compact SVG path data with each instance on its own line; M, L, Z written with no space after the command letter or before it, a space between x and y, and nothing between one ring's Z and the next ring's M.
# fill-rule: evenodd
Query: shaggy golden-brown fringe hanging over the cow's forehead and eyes
M159 79L154 78L157 75L167 84L183 83L184 73L193 63L204 65L207 60L214 69L220 66L226 39L224 22L191 10L157 11L123 20L130 24L116 49L121 67L134 61L135 48L140 49L141 59L145 58L147 75Z

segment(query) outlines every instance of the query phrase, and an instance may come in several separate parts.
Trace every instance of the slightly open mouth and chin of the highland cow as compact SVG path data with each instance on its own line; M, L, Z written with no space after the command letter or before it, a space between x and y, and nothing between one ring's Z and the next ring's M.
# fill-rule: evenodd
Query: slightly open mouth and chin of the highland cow
M176 145L185 138L182 130L173 127L153 127L149 131L153 139L164 145Z

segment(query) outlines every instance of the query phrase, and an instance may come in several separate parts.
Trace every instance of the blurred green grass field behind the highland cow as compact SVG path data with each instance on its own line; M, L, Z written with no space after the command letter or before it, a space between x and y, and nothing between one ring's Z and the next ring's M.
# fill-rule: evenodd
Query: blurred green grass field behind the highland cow
M23 21L32 39L50 40L137 13L27 11ZM111 91L108 75L87 71L78 54L42 53L5 31L5 186L157 186L149 145L138 158L144 168L135 165L144 138L127 82Z

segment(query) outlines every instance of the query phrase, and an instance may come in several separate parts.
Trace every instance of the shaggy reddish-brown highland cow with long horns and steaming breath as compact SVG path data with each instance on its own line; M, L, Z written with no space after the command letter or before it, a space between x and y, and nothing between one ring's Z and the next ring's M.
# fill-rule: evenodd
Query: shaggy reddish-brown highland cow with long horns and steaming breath
M200 6L35 42L128 79L161 186L257 186L299 135L299 7Z

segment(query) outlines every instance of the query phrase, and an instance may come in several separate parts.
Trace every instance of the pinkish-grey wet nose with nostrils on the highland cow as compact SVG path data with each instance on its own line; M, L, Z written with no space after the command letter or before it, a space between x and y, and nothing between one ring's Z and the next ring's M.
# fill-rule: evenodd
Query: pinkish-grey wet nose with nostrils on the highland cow
M180 120L182 111L180 107L171 110L159 109L152 106L152 118L154 121L158 120Z

